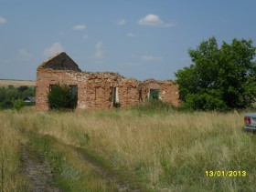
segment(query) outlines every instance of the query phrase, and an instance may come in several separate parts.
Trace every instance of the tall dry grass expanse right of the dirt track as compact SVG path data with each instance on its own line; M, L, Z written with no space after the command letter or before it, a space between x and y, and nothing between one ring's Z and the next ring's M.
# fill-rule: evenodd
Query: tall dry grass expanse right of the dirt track
M254 191L255 135L241 131L243 114L142 114L134 110L75 113L6 112L19 129L57 137L99 153L148 190ZM5 117L4 117L5 118ZM246 171L207 177L206 171Z

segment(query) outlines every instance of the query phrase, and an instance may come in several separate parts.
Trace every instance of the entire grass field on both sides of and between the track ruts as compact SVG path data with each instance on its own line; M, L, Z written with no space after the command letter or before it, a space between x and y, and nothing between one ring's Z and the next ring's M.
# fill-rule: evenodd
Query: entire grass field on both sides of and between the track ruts
M46 157L62 167L56 178L65 191L73 191L76 179L67 179L72 174L91 188L88 191L115 190L105 178L88 171L72 147L80 147L106 171L141 191L256 190L256 137L241 130L243 113L142 108L42 113L30 107L19 113L1 111L0 123L6 191L27 188L27 178L20 171L21 143L37 154L42 150L52 154L52 148L54 153L62 151L55 158ZM44 136L54 142L46 142ZM47 147L39 145L41 140ZM91 174L79 177L85 173ZM84 181L88 178L91 182Z

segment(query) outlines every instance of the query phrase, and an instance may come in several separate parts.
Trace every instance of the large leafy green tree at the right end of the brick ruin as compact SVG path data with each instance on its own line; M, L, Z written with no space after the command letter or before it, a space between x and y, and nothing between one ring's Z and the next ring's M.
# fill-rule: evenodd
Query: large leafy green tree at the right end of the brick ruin
M221 47L215 37L189 49L193 64L176 72L184 106L200 110L227 110L251 106L256 95L256 47L233 39Z

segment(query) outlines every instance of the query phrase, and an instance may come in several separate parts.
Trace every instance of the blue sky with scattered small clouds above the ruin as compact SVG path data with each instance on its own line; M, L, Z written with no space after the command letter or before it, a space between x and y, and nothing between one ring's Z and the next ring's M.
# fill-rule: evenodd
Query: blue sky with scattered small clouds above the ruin
M36 80L65 51L84 71L175 79L215 36L256 45L255 0L0 0L0 79Z

